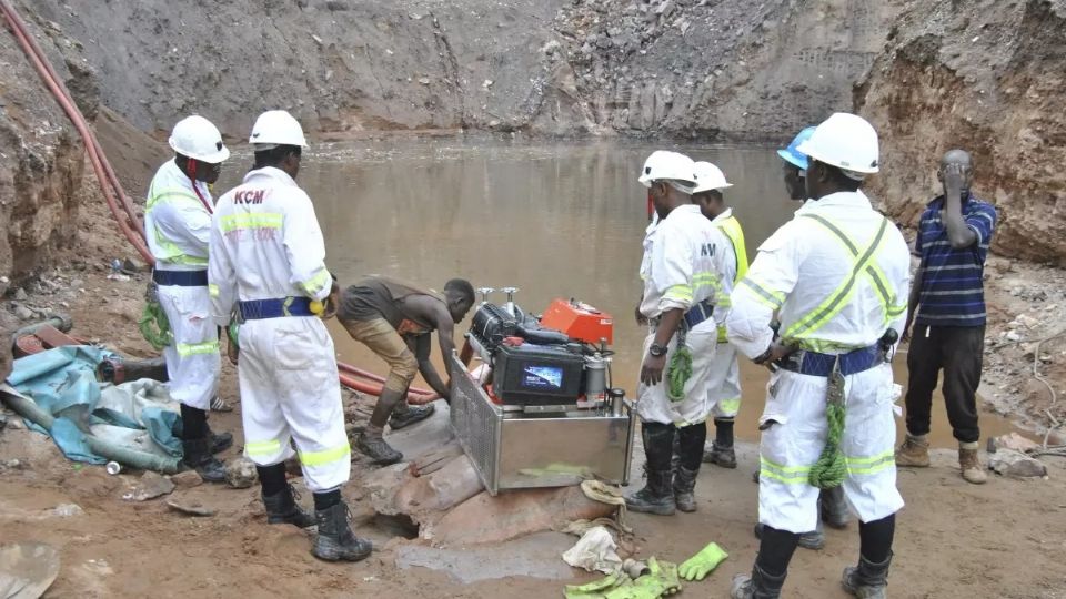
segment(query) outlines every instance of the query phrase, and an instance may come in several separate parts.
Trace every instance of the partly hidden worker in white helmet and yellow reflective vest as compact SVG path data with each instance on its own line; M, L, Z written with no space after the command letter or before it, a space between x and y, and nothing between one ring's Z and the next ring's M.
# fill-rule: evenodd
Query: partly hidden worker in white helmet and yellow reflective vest
M696 163L698 184L692 192L692 201L711 224L725 235L723 247L722 287L715 294L714 322L717 325L717 344L711 375L707 379L707 394L714 416L715 438L711 449L704 451L703 461L716 464L723 468L736 468L736 451L733 449L733 423L741 409L741 366L736 361L736 348L725 337L725 317L730 313L730 293L733 286L747 272L747 248L744 245L744 230L733 215L733 209L725 203L722 190L733 184L725 180L722 170L710 162Z

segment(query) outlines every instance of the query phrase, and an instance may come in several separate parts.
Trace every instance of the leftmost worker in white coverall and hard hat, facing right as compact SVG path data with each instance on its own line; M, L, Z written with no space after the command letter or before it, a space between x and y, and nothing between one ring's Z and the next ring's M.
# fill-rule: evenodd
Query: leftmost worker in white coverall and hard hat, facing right
M230 151L219 130L198 115L174 125L170 146L174 159L155 172L144 204L145 237L155 258L152 285L170 328L170 343L163 348L168 387L181 404L184 463L204 480L222 483L225 469L214 454L232 445L233 436L214 435L208 427L222 367L208 296L214 210L208 185L219 180Z

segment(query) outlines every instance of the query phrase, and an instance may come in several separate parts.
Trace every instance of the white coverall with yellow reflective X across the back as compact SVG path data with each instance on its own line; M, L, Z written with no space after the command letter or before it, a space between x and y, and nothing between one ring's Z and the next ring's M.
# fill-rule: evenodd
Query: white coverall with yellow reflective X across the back
M875 345L886 328L903 329L909 264L903 235L862 192L808 202L758 248L734 290L730 342L748 357L762 355L780 311L785 344L834 355ZM816 527L818 489L807 476L825 446L826 386L825 377L784 368L771 375L760 418L768 425L758 485L758 520L766 526L797 534ZM903 507L893 456L898 395L888 364L845 376L843 486L862 521Z

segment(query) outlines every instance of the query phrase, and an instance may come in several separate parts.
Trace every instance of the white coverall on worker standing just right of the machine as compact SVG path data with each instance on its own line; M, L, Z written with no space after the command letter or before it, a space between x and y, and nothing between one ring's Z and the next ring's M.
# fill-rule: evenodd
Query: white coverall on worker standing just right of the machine
M644 240L641 278L644 295L641 314L657 319L668 309L685 312L704 300L714 302L724 276L725 246L728 240L711 224L700 206L686 204L675 207L658 222ZM687 426L701 424L711 413L707 398L707 376L714 359L717 327L714 318L688 331L686 345L692 352L692 376L685 383L685 399L673 403L666 395L664 379L647 386L637 386L636 412L645 422ZM646 356L655 339L651 327L644 339L642 356ZM677 347L675 333L667 345L667 361ZM668 362L667 362L668 364Z

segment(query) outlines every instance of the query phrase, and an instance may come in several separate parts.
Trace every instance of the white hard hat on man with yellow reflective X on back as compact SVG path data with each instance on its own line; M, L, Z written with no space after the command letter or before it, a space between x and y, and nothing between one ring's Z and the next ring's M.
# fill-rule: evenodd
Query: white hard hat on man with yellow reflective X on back
M877 172L877 132L862 116L837 112L819 124L796 151L842 169L853 179Z

